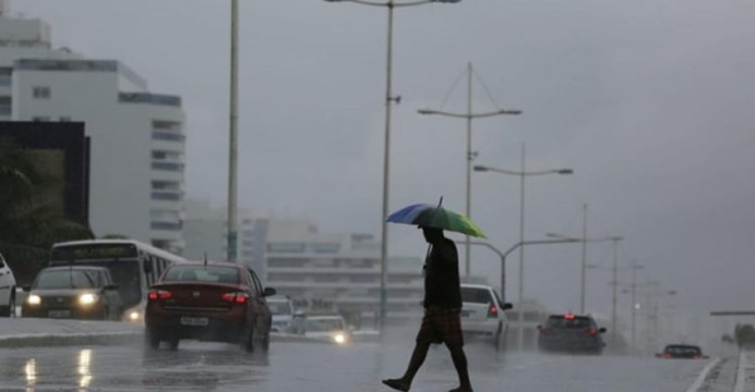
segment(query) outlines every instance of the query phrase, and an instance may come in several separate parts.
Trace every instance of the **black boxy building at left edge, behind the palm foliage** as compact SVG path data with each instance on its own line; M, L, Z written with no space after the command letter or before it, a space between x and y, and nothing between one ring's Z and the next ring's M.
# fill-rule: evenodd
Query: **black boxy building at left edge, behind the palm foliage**
M57 180L61 215L88 225L89 139L84 124L0 121L2 139L27 151L40 171Z

